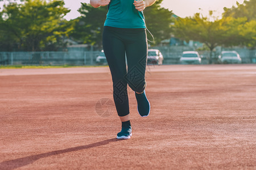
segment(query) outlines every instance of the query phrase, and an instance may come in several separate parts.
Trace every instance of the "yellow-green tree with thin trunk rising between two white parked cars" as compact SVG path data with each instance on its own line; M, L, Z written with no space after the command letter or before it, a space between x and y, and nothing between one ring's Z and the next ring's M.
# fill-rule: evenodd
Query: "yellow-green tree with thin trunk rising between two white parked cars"
M176 37L186 41L203 42L208 46L210 49L209 63L212 63L212 51L216 46L235 45L241 42L237 27L246 22L246 18L217 19L212 15L212 11L209 12L209 17L197 13L193 17L177 19L174 25Z

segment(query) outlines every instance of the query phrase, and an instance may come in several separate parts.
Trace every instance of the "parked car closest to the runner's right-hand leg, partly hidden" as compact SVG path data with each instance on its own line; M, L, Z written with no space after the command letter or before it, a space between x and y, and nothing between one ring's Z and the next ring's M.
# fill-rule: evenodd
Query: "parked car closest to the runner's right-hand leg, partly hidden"
M147 63L162 65L163 64L162 53L158 49L148 49Z

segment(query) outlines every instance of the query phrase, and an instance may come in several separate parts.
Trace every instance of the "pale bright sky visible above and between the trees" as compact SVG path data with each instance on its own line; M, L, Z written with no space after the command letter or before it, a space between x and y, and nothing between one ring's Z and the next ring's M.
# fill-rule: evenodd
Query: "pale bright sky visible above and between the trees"
M208 15L209 10L213 10L214 16L221 16L224 12L224 7L236 6L236 2L242 3L244 0L163 0L162 7L168 8L174 12L175 15L180 17L193 16L196 12L203 15ZM90 0L64 0L65 7L69 8L69 12L65 19L75 19L80 16L77 10L81 6L81 2L89 3ZM2 8L4 2L0 2ZM200 8L200 9L199 9Z

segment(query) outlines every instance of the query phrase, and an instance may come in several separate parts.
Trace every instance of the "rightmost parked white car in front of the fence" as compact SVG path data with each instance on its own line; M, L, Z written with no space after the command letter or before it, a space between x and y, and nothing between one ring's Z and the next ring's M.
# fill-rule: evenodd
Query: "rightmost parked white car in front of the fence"
M236 51L222 51L220 58L222 63L241 63L242 59Z

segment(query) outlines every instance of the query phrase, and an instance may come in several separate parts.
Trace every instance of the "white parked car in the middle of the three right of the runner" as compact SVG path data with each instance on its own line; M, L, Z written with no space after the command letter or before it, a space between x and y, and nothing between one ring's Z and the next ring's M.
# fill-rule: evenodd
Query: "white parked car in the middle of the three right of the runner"
M187 51L183 52L180 57L181 64L201 64L201 57L198 52Z

